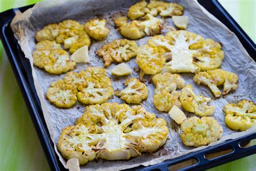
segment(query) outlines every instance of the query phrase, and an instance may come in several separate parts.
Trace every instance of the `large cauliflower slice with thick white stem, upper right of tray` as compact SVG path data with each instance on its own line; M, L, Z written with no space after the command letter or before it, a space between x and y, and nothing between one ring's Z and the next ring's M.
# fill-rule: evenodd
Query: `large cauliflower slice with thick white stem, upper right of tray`
M200 35L179 30L168 32L165 37L157 35L148 42L158 47L162 56L170 59L162 73L197 73L200 70L219 68L224 58L219 44Z

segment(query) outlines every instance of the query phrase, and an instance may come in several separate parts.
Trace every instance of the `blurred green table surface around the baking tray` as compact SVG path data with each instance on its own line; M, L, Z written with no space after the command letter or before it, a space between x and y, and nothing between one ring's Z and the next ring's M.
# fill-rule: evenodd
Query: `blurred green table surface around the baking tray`
M38 2L0 0L0 12ZM221 0L245 32L256 40L256 0ZM0 42L0 170L50 170L10 63ZM210 170L256 170L256 155Z

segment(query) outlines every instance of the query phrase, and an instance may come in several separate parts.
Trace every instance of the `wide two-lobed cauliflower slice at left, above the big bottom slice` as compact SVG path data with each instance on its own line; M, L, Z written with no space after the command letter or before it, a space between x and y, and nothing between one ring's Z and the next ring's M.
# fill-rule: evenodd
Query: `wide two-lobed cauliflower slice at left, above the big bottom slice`
M104 68L99 67L87 67L78 73L69 72L57 83L53 82L48 88L46 98L59 108L71 108L76 104L77 99L83 104L102 104L113 94L110 78L106 76ZM67 100L63 99L70 98L73 101L67 105Z

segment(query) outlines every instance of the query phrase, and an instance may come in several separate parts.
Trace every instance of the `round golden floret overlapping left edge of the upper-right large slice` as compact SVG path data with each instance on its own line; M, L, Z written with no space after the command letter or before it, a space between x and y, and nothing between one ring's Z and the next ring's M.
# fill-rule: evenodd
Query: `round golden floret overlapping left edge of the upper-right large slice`
M145 74L155 75L164 67L165 58L157 48L143 45L137 51L136 63Z

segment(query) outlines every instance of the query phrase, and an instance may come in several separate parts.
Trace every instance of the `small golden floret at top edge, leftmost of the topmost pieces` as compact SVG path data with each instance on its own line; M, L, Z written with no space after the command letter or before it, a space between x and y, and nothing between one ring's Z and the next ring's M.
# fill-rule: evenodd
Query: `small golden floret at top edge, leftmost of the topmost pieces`
M146 1L141 1L132 5L127 12L127 17L129 17L131 20L134 20L145 16L146 13L150 12L150 10L146 8L146 6Z

